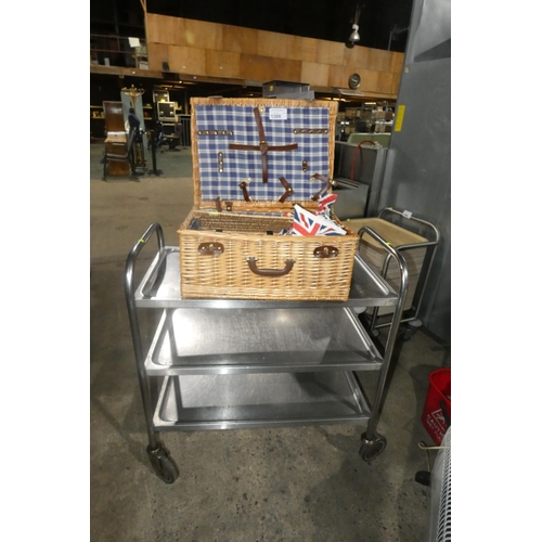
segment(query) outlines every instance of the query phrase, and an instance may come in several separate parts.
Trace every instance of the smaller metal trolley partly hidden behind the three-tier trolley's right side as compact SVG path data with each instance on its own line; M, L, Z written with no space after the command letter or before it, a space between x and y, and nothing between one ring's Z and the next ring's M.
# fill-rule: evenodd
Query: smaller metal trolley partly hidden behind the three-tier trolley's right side
M410 286L414 288L412 292L412 306L410 306L410 298L408 293L405 294L405 299L408 299L409 307L405 307L404 312L401 314L401 326L399 330L399 339L406 343L412 338L412 336L417 332L417 330L422 326L423 322L420 320L420 307L422 305L422 300L426 293L427 281L429 279L430 270L433 267L433 262L435 261L435 253L437 246L440 241L440 232L430 222L426 220L422 220L421 218L414 217L409 211L399 211L391 207L386 207L380 210L378 214L378 219L385 220L391 224L395 224L405 232L412 232L417 235L423 235L427 241L424 242L411 242L403 243L399 245L395 245L395 249L401 255L405 255L405 253L413 253L415 249L425 249L425 257L422 262L422 269L420 272L420 280L414 283L412 269L409 269L410 259L406 260L406 267L409 270L409 275L411 278ZM370 221L371 219L367 219ZM362 228L360 232L363 230ZM379 232L382 235L382 232ZM382 235L384 237L384 235ZM386 240L388 242L389 240ZM389 245L389 243L388 243ZM396 284L397 279L392 278L392 273L390 273L390 263L392 262L390 254L386 254L382 259L382 264L376 269L374 266L371 266L373 270L379 273L388 283L392 286ZM400 273L396 270L396 275L400 275ZM393 280L395 279L395 280ZM405 304L406 305L406 304ZM389 315L380 317L380 309L375 307L372 311L367 311L361 314L361 319L366 322L369 331L373 337L377 337L379 334L379 330L383 327L388 327L392 323L392 319ZM405 325L404 325L405 324Z

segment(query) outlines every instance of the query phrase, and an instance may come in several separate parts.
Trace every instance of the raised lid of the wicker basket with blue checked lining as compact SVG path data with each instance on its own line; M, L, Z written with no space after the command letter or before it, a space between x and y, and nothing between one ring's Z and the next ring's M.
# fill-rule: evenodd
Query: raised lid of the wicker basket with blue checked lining
M315 205L333 176L337 103L192 98L194 202Z

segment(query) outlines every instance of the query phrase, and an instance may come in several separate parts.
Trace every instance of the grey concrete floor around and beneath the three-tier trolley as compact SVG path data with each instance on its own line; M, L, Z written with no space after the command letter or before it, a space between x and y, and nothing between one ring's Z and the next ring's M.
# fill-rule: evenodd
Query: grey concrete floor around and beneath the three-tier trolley
M91 540L424 541L429 490L414 476L427 469L417 444L431 440L421 414L427 376L449 364L450 352L423 332L396 350L378 425L388 443L373 462L358 454L364 426L166 433L180 476L166 485L154 474L124 267L151 222L163 225L166 244L177 244L193 204L191 151L159 154L160 177L104 182L103 145L90 147ZM141 320L151 332L152 311ZM375 378L364 380L370 392Z

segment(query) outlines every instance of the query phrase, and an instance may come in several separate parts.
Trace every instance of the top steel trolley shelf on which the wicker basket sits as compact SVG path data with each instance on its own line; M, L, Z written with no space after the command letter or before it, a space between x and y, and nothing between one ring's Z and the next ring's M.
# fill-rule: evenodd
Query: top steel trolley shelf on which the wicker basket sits
M209 309L273 309L317 307L395 306L398 295L371 268L356 256L350 296L347 301L278 301L255 299L182 299L179 247L164 246L155 256L134 292L137 307Z

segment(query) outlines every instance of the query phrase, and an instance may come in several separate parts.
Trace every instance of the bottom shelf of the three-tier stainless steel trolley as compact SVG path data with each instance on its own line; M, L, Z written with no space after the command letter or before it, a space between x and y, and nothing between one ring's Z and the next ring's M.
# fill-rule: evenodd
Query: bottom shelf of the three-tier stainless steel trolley
M370 409L351 372L166 376L156 430L244 429L364 422Z

